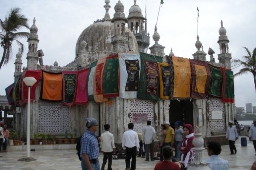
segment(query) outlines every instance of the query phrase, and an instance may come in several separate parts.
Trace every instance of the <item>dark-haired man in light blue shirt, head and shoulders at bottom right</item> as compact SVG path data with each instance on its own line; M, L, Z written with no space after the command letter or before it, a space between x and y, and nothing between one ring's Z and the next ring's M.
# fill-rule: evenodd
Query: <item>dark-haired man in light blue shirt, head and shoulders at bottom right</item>
M205 162L211 170L228 170L228 161L218 156L221 153L221 145L218 142L208 142L207 152L210 157Z

